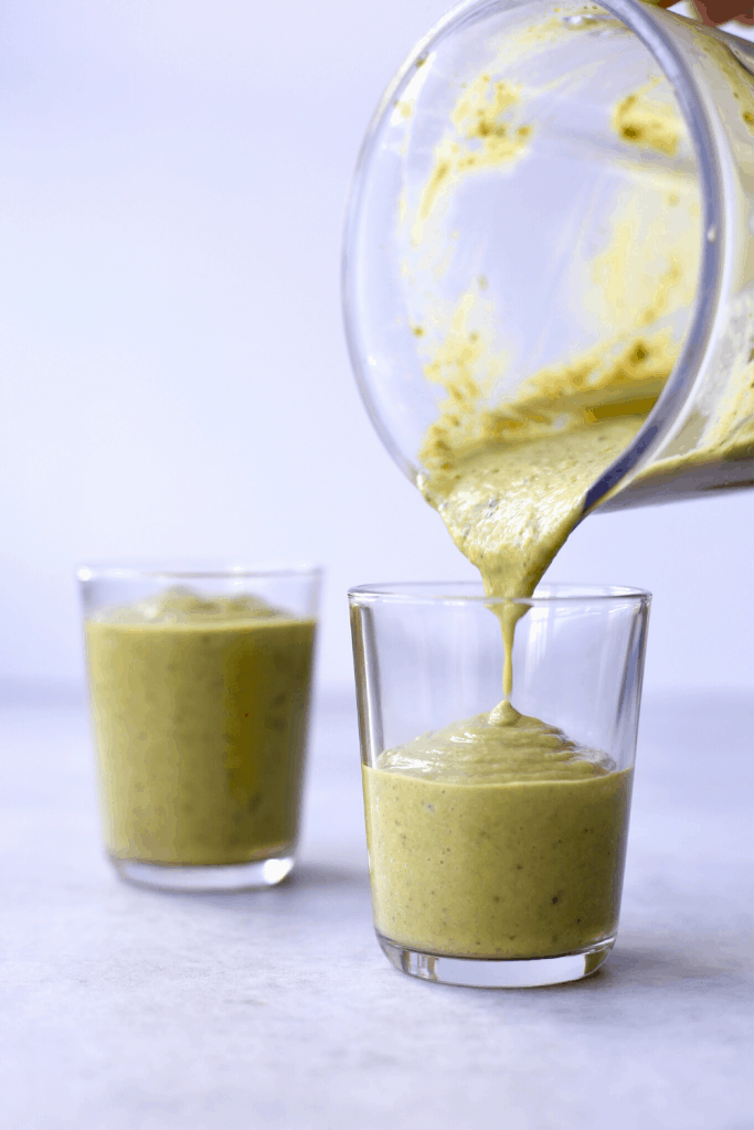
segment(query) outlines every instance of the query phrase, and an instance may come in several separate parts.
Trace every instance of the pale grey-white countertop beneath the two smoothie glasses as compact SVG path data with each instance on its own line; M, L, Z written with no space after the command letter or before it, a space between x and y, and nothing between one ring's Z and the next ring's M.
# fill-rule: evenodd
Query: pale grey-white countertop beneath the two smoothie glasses
M348 698L317 712L294 877L187 895L103 859L84 707L7 697L2 1130L754 1127L751 696L647 697L615 950L517 990L382 956Z

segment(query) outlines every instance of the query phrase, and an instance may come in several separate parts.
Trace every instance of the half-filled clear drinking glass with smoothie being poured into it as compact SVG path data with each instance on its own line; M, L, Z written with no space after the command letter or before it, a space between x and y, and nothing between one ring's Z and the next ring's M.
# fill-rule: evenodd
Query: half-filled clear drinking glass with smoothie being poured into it
M449 984L592 973L618 924L649 594L427 583L349 599L383 951ZM514 711L491 720L506 616Z

